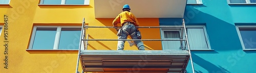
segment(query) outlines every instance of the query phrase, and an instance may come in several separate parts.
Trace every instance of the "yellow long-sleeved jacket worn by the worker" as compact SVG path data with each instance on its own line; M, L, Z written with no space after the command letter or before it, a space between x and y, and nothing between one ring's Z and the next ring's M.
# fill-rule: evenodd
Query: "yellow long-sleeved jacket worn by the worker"
M133 13L129 12L129 11L124 11L121 12L113 21L113 26L117 27L118 23L121 23L121 26L123 26L124 22L130 21L132 23L134 23L134 25L136 27L139 26L139 22L137 20L137 18L133 15Z

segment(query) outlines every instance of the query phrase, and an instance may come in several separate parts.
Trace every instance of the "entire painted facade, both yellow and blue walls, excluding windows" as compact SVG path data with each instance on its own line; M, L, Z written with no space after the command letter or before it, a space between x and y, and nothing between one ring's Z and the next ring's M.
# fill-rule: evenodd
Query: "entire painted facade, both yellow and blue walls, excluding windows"
M8 40L2 30L0 71L2 72L75 72L77 50L30 50L35 26L77 26L82 18L88 26L112 26L114 18L95 18L94 1L90 5L38 5L39 0L11 0L0 5L0 25L8 16ZM256 25L255 5L228 5L225 0L203 0L202 5L186 5L186 25L205 26L211 50L192 51L196 72L241 73L255 72L255 51L244 51L237 33L238 25ZM181 18L138 18L140 26L174 25ZM4 28L3 28L4 29ZM109 28L89 28L91 39L117 39ZM143 39L161 39L160 29L140 29ZM255 39L255 38L254 38ZM8 41L8 42L3 42ZM79 38L75 39L79 41ZM162 50L161 41L143 41L146 50ZM255 42L255 41L252 41ZM8 47L6 46L8 44ZM88 50L116 50L117 41L89 41ZM73 45L78 45L74 43ZM256 44L253 44L255 46ZM8 49L4 49L4 48ZM124 50L137 50L126 42ZM8 54L5 54L8 51ZM6 58L8 57L8 65ZM5 67L8 66L8 69ZM79 71L81 67L79 66ZM191 71L189 62L187 71Z

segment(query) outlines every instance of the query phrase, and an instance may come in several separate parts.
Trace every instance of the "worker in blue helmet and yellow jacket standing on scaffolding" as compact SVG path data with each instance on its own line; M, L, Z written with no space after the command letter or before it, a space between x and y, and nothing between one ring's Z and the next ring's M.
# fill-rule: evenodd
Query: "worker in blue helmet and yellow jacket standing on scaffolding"
M139 27L139 22L137 18L130 12L130 6L124 5L121 12L114 20L113 26L117 27L117 24L120 23L122 28L115 28L116 31L120 29L120 35L118 35L118 39L127 39L127 36L130 35L132 39L141 39L141 36L137 36L140 34L139 30L136 27ZM138 34L137 34L138 33ZM117 50L123 50L125 41L118 41ZM140 40L135 40L138 50L145 50L144 44Z

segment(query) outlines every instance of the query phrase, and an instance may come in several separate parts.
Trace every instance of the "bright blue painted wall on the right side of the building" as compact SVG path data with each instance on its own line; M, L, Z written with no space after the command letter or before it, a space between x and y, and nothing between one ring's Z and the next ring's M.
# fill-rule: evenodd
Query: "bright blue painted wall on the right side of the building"
M226 0L202 0L187 5L186 25L206 26L211 49L192 51L198 73L256 72L256 51L243 51L235 25L256 26L256 5L228 5ZM159 18L160 25L176 25L181 18ZM192 72L189 62L187 71Z

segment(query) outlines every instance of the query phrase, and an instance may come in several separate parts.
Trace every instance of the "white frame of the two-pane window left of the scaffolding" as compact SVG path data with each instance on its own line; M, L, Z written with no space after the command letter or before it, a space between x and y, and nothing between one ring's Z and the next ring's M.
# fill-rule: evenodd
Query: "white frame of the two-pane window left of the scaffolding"
M54 45L53 45L52 50L58 50L61 28L81 28L81 27L80 26L34 26L33 31L32 31L32 35L31 35L31 39L30 39L29 50L37 50L37 49L32 49L34 39L35 39L36 28L57 28L56 35L55 35L55 40L54 40ZM80 35L79 35L79 37L80 37ZM85 50L83 44L84 43L81 44L81 50Z

